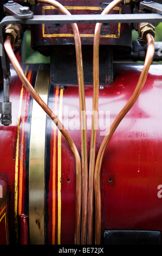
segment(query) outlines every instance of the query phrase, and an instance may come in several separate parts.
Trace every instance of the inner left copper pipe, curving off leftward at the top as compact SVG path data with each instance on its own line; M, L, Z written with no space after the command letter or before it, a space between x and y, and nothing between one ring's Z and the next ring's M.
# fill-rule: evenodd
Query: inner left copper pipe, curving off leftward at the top
M38 0L38 3L50 4L66 15L71 15L69 11L63 7L62 4L54 0ZM81 244L86 244L87 236L87 200L88 200L88 160L87 160L87 124L86 124L86 104L85 104L85 86L83 79L83 63L82 63L82 50L81 39L77 24L71 24L76 50L76 63L77 63L77 80L79 84L79 99L80 99L80 118L81 118L81 160L82 160L82 231L81 231Z

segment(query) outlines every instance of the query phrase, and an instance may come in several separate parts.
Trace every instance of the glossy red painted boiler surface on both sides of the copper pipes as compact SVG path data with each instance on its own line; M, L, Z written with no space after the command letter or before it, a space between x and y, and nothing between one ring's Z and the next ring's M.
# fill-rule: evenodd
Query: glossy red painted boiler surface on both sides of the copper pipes
M26 66L23 65L25 71ZM38 65L29 65L27 77L35 83ZM29 77L29 71L33 70ZM125 105L137 84L142 65L115 64L115 79L105 84L99 94L99 130L97 150L121 108ZM142 92L116 129L103 158L101 170L102 234L104 229L162 230L162 209L159 185L162 184L162 132L161 132L161 65L152 65ZM16 86L15 86L16 84ZM15 159L17 143L18 109L22 84L11 68L12 125L0 126L0 179L9 189L9 231L11 242L16 242L15 224ZM55 88L50 87L48 104L55 103ZM90 126L93 86L85 85L87 107L87 142L89 157ZM60 96L58 98L59 106ZM26 105L25 105L26 104ZM32 113L29 94L23 91L19 147L23 150L23 194L18 215L28 216L28 141L29 120ZM88 114L89 111L89 114ZM106 112L107 111L107 112ZM24 115L25 113L25 115ZM109 115L110 114L110 115ZM110 119L108 120L110 116ZM23 121L23 117L24 121ZM107 118L107 121L106 121ZM76 85L65 85L62 101L62 121L80 150L79 96ZM105 125L107 126L105 127ZM23 130L24 129L24 130ZM46 133L46 243L52 243L52 164L54 124L47 119ZM24 131L24 133L22 133ZM102 133L101 133L102 132ZM24 141L22 141L24 134ZM57 133L56 133L57 141ZM23 147L22 143L23 142ZM57 143L56 143L57 148ZM61 142L61 244L74 243L75 228L75 162L64 138ZM57 151L56 151L57 159ZM21 164L21 154L18 164ZM19 167L18 167L19 168ZM18 169L20 172L20 169ZM57 181L57 164L56 164ZM162 185L161 185L162 187ZM19 187L18 187L18 191ZM18 192L19 193L19 192ZM18 200L20 200L18 194ZM55 243L57 243L57 183L55 210ZM19 206L20 209L20 206ZM26 228L26 224L25 224ZM18 230L18 233L20 230ZM101 241L102 242L102 241Z

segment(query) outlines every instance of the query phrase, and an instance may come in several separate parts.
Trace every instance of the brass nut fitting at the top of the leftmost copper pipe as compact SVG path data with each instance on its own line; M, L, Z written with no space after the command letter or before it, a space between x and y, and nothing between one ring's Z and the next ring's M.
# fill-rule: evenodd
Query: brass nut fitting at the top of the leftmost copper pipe
M15 47L20 46L20 28L17 25L10 24L5 28L5 33L11 36L11 44Z

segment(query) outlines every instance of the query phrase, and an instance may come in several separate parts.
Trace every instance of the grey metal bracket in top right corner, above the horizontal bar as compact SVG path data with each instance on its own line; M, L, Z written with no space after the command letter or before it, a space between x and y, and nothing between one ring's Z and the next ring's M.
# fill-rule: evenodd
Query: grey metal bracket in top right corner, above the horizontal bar
M162 4L160 3L156 3L153 1L143 1L140 2L140 9L141 10L149 10L152 13L158 13L158 14L162 14Z

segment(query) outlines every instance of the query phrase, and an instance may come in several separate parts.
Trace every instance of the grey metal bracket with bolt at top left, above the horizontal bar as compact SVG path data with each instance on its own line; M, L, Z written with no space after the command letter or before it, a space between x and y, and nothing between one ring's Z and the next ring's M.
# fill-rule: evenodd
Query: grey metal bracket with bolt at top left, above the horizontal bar
M30 11L29 7L23 7L22 5L10 0L3 5L5 13L9 13L21 20L27 20L33 18L33 11Z

